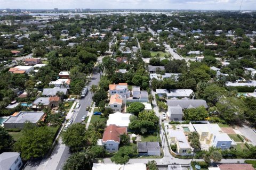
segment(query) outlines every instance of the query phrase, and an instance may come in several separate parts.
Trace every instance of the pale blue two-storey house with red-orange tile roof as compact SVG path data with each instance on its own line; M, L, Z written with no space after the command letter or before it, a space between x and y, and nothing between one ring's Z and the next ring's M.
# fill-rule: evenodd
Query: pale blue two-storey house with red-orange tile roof
M117 152L120 143L120 135L122 134L127 134L126 127L119 127L117 125L111 124L105 128L103 138L100 143L101 145L106 146L106 150L108 152Z

